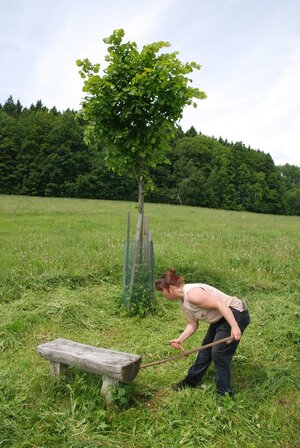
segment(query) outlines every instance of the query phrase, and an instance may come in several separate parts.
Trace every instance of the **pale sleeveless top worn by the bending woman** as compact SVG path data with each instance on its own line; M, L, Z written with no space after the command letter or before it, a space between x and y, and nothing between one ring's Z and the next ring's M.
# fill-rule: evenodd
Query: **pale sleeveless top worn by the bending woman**
M223 316L218 309L200 308L198 305L194 305L193 303L191 303L188 299L188 293L193 288L204 289L204 291L207 291L212 296L217 297L227 306L231 306L238 311L243 311L244 309L243 302L237 297L228 296L219 289L214 288L210 285L206 285L205 283L188 283L183 287L183 300L181 301L181 306L185 313L191 314L192 317L196 320L202 320L208 322L209 324L213 324L215 322L218 322L218 320L220 320Z

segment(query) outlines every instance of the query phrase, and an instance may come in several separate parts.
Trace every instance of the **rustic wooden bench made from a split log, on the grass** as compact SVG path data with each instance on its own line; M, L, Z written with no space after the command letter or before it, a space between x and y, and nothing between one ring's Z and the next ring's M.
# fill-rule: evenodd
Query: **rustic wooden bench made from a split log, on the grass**
M112 387L118 382L131 383L138 374L142 357L126 352L80 344L68 339L55 339L37 347L38 353L50 361L52 375L60 377L67 366L102 375L101 394L106 404L112 402Z

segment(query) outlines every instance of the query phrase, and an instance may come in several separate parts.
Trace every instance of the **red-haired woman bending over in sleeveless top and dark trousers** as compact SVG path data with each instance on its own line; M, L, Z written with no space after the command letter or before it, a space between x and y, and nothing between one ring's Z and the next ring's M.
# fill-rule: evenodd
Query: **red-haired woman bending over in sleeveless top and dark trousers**
M232 338L230 343L220 343L199 351L187 376L173 386L173 389L197 386L213 362L217 393L220 395L228 393L233 397L231 361L241 336L250 323L245 302L204 283L185 284L183 277L177 275L175 269L162 274L156 280L155 288L171 302L179 300L186 317L187 325L182 334L177 339L169 341L172 347L182 349L182 343L197 330L199 320L209 324L202 345L226 337Z

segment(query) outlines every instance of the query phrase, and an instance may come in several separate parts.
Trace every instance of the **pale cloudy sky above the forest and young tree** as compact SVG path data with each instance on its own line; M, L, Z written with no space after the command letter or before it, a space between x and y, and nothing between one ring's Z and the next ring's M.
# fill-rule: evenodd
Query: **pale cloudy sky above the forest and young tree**
M103 38L171 43L195 61L186 131L241 141L300 166L300 0L0 0L0 103L79 110L77 59L105 68ZM170 51L170 50L167 50Z

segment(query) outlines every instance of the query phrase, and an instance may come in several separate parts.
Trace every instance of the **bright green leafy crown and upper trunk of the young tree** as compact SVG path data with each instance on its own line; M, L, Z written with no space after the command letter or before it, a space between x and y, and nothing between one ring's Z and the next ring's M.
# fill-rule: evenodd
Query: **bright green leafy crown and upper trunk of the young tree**
M189 85L187 77L200 66L182 63L173 53L161 53L168 42L145 45L123 42L124 31L115 30L103 39L109 45L108 63L78 60L84 78L81 114L87 121L86 139L105 147L107 165L138 183L137 241L142 240L144 193L151 187L151 170L166 162L169 141L186 105L197 104L205 93Z

